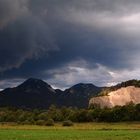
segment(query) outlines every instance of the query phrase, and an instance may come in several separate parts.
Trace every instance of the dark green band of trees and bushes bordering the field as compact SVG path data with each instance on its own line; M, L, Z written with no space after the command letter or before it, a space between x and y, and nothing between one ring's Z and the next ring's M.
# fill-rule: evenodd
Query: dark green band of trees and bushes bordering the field
M140 104L129 103L114 108L90 107L78 109L71 107L57 108L52 105L47 110L0 108L0 122L19 124L51 125L54 122L122 122L140 121Z

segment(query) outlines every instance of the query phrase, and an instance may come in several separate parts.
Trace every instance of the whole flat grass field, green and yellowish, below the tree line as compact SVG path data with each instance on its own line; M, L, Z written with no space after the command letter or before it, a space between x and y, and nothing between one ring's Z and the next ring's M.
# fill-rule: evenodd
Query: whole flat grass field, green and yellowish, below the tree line
M72 127L0 125L0 140L139 140L140 123L84 123Z

